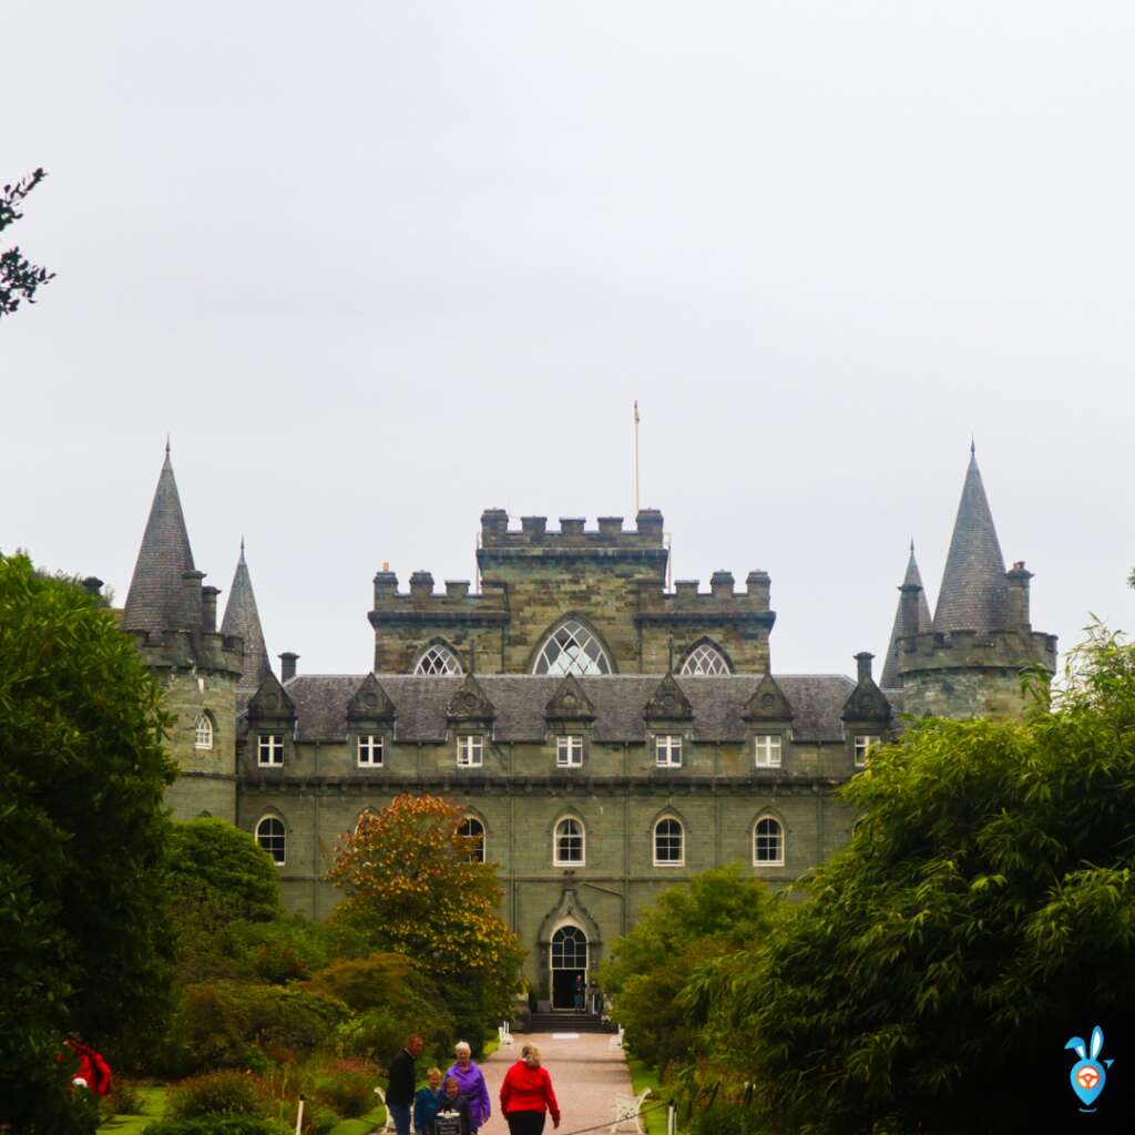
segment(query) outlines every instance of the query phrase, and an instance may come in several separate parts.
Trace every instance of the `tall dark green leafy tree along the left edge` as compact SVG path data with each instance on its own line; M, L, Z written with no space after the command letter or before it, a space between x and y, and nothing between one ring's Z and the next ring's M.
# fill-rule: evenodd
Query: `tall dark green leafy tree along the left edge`
M0 1126L86 1129L66 1033L121 1056L161 1026L168 724L112 614L0 556Z

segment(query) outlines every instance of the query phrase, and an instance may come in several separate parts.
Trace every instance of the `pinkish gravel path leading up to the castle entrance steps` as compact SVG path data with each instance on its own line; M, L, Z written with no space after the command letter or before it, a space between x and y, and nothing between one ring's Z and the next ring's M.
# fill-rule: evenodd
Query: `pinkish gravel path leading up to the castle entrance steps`
M568 1039L571 1037L571 1039ZM537 1044L540 1059L552 1076L552 1086L560 1101L561 1135L597 1124L611 1125L611 1109L616 1092L631 1094L631 1077L621 1049L611 1048L608 1033L564 1034L516 1033L512 1048L501 1048L482 1065L493 1098L493 1118L481 1128L488 1135L504 1135L508 1126L501 1115L501 1081L508 1066L520 1059L524 1044ZM647 1103L650 1102L647 1096ZM630 1127L622 1130L630 1135ZM545 1135L550 1135L550 1118ZM596 1133L600 1135L600 1133Z

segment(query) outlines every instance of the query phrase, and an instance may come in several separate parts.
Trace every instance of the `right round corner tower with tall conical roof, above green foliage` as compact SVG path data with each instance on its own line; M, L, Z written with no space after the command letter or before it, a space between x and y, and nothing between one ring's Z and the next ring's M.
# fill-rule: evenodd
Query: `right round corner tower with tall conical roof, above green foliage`
M942 574L933 628L924 625L920 580L900 588L893 642L902 708L915 717L1019 717L1022 676L1056 673L1057 640L1029 622L1024 561L1004 569L974 446ZM888 657L890 664L890 656Z

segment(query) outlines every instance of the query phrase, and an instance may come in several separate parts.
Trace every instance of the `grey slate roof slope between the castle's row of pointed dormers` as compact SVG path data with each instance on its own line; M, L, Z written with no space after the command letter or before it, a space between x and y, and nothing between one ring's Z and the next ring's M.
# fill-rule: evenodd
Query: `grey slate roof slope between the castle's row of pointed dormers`
M343 740L347 733L347 704L361 674L301 674L286 686L299 717L301 741ZM658 688L661 674L605 674L580 678L595 708L598 741L641 741L646 734L642 709ZM446 707L464 681L461 676L379 674L382 689L396 711L396 730L403 741L442 741ZM730 674L679 679L693 711L693 735L703 741L741 741L746 703L760 683L760 674ZM544 711L562 679L533 674L478 674L477 681L496 708L494 735L498 741L540 742L547 733ZM855 689L843 674L781 674L776 682L792 707L792 732L798 741L840 741L841 714Z

